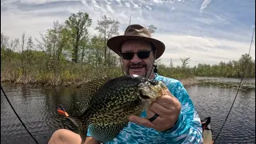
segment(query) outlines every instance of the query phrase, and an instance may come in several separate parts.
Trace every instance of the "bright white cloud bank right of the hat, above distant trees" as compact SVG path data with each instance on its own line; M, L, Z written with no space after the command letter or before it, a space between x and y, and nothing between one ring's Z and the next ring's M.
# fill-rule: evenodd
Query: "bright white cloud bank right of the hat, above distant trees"
M230 41L222 38L202 38L191 35L155 34L165 43L166 52L161 62L168 65L170 58L174 65L180 65L179 58L190 57L190 66L198 63L218 64L220 61L238 60L242 54L247 54L250 42ZM253 46L255 47L255 43ZM255 58L255 49L251 49L252 58Z

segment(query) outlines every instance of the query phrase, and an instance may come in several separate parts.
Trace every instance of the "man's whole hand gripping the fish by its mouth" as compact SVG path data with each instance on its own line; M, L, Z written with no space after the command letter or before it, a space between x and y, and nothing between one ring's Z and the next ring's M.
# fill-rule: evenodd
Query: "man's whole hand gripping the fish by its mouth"
M181 111L181 103L178 99L170 94L169 90L164 91L162 97L152 102L148 110L146 110L147 118L130 116L129 121L138 125L153 128L154 130L169 130L178 121ZM158 114L158 118L150 122L148 118L152 118L154 114Z

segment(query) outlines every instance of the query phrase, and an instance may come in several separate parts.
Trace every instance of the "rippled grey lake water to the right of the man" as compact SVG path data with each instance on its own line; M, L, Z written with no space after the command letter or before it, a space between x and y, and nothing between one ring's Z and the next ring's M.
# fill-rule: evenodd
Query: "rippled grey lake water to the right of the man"
M219 86L190 86L187 88L200 118L211 117L216 138L237 89ZM255 90L239 91L234 106L216 143L255 143Z

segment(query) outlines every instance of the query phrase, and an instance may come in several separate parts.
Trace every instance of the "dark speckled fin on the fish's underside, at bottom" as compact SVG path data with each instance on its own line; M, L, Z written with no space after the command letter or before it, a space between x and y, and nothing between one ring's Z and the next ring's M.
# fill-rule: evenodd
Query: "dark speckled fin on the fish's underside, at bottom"
M90 135L100 142L109 142L113 140L127 124L128 122L91 124L89 126Z

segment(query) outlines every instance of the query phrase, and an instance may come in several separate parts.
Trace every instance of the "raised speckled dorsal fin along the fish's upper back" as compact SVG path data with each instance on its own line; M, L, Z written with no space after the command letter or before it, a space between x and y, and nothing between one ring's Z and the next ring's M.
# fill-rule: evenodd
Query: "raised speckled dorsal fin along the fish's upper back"
M102 78L94 78L88 82L84 82L81 85L81 102L80 106L82 106L82 110L85 111L87 107L90 105L91 99L93 98L95 92L106 82L108 82L111 78L108 76L104 76Z

